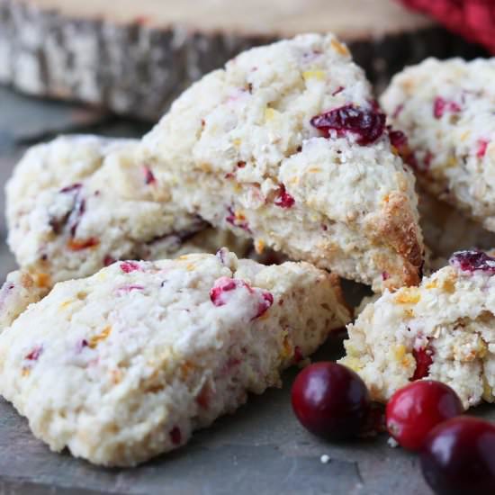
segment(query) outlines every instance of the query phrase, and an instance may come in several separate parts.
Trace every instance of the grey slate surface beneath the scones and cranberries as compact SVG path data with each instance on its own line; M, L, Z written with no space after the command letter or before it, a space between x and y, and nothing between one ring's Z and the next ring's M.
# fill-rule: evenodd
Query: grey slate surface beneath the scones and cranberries
M70 117L77 107L42 103L2 89L0 105L2 184L27 142L50 139L58 131L139 136L146 130L142 124L106 117L88 125ZM23 118L17 114L17 108L23 108ZM29 120L30 115L33 121L28 131L23 127L23 119ZM1 195L0 204L3 219ZM4 234L4 220L1 220L2 277L14 268L14 259L4 245ZM345 290L354 301L362 293L353 284L345 284ZM341 354L340 341L332 340L316 358L333 359ZM0 399L0 495L430 493L419 473L417 457L387 446L385 435L331 445L303 430L290 405L290 385L295 374L296 370L289 370L284 375L284 389L251 397L237 414L197 433L188 446L126 470L94 467L67 452L49 452L31 435L26 420ZM495 420L495 411L488 406L474 412ZM321 455L329 455L330 462L322 464Z

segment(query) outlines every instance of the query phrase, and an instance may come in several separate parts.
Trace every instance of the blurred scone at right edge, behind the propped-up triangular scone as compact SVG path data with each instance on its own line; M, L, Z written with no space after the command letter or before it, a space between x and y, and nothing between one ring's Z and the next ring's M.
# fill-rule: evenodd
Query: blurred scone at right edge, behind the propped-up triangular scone
M394 76L382 97L423 187L493 231L494 80L495 58L428 58Z

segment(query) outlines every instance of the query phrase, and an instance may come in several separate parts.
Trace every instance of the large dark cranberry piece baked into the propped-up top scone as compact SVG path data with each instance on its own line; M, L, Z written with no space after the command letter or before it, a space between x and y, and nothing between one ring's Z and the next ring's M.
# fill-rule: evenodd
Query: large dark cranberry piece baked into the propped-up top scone
M357 134L357 144L365 146L382 136L385 130L385 114L377 110L365 110L347 104L321 113L311 119L311 125L321 130L326 138L330 130L336 130L338 137L347 132Z

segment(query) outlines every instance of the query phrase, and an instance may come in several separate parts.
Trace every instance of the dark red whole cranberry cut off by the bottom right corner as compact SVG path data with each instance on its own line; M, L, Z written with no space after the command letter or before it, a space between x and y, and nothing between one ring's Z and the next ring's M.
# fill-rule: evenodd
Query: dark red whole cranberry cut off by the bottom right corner
M434 428L421 449L421 470L437 495L495 493L495 426L462 416Z

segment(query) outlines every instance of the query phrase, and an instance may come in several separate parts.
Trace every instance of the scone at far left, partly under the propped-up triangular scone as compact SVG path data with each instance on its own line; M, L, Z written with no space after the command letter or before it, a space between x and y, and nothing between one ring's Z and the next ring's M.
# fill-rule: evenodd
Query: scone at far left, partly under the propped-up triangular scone
M24 271L54 284L119 259L234 244L171 202L169 184L139 163L136 143L62 136L28 150L6 186L8 244ZM235 247L243 256L247 243Z

